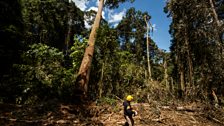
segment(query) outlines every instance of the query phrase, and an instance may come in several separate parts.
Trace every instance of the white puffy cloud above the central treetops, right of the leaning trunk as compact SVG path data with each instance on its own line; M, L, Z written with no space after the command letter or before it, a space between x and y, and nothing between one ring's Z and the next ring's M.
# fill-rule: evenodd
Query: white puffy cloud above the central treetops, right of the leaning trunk
M114 13L113 10L109 10L109 14L108 14L108 22L109 23L117 23L119 21L122 20L123 16L126 13L126 9L123 9L123 11L119 12L119 13Z

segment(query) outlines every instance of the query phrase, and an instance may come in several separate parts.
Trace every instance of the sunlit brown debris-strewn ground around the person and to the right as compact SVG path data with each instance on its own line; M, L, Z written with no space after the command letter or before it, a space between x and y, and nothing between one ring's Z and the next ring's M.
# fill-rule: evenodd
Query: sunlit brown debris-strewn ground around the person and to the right
M157 106L146 103L135 104L138 115L134 117L136 126L224 126L222 120L207 115L204 108L199 108L195 103L188 106ZM208 111L207 111L208 112ZM100 116L105 126L120 126L125 119L122 111Z

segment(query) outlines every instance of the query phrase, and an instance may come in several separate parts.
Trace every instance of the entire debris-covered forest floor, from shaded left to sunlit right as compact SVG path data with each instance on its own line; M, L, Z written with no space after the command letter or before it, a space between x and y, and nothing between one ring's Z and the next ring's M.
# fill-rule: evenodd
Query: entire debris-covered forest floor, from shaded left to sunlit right
M133 103L138 111L136 126L224 126L223 108L202 103L161 105ZM122 102L116 104L62 104L54 101L38 105L0 104L0 126L122 126Z

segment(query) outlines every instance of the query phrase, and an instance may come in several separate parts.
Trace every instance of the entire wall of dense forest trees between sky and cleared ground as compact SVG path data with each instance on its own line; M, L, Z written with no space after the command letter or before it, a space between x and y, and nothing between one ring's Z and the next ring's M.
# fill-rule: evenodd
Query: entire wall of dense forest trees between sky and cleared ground
M124 2L133 0L100 0L96 12L69 0L2 0L0 102L72 102L82 91L146 101L159 91L205 101L215 92L224 104L224 1L167 1L170 52L151 38L148 12L129 8L116 27L102 18L103 7Z

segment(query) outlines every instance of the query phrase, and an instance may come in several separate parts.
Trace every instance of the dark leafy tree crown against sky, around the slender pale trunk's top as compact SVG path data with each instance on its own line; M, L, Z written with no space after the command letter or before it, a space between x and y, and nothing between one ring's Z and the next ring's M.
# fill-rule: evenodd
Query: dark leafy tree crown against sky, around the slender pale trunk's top
M122 49L135 54L137 63L140 63L147 54L145 16L148 20L151 19L147 12L141 12L132 7L127 10L125 17L116 27ZM156 58L159 52L158 47L150 38L149 46L150 59Z

